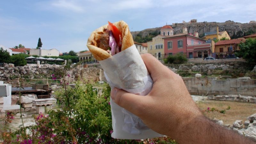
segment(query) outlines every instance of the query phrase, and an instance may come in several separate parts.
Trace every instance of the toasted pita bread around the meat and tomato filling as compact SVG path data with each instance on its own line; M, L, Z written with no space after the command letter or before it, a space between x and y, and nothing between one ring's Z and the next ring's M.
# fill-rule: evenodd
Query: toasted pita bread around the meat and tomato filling
M132 46L134 42L133 42L132 34L129 30L127 23L125 23L123 20L120 20L118 22L115 22L114 25L122 33L123 40L122 40L121 51ZM90 52L92 52L92 55L96 60L105 60L111 57L111 55L107 51L97 47L97 45L99 45L98 44L99 39L104 34L104 31L106 31L107 27L108 27L108 24L96 29L95 31L92 32L91 36L88 38L87 47L89 48Z

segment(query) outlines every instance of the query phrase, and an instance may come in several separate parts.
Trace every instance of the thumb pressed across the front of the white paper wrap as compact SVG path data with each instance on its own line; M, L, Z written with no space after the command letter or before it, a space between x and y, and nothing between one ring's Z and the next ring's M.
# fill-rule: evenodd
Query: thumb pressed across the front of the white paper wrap
M143 107L143 101L145 96L140 96L126 92L124 90L114 88L111 93L112 100L120 107L125 108L135 115L139 115L140 108Z

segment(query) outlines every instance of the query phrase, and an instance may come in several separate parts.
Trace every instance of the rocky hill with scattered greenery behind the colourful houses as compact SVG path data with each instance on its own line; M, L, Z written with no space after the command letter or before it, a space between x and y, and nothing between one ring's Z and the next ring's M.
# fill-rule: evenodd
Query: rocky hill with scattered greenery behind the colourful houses
M189 33L198 32L199 37L203 37L205 32L216 31L217 26L219 26L219 31L226 30L231 38L238 38L256 33L256 23L239 23L231 20L225 22L175 23L170 26L174 29L174 34L182 33L182 27L187 27ZM142 31L133 31L131 33L135 41L140 40L140 43L144 43L150 41L149 38L145 39L144 37L156 36L160 34L160 29L161 27L148 28Z

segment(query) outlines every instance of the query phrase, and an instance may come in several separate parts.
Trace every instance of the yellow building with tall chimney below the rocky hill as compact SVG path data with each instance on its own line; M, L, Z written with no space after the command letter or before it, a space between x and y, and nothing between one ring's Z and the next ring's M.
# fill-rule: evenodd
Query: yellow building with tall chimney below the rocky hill
M202 37L202 38L204 38L204 39L206 39L208 41L215 40L215 39L220 40L223 37L226 37L226 38L230 39L230 36L228 35L228 32L226 30L219 32L219 27L218 26L217 26L217 31L207 32L204 35L205 36Z

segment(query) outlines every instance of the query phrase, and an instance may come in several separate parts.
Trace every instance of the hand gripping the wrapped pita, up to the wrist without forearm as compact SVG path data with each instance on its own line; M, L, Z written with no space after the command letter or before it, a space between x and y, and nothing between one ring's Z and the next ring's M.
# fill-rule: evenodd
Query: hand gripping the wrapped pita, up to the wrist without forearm
M141 57L154 82L151 92L138 96L115 88L111 91L111 98L139 116L152 130L175 138L190 119L202 114L179 75L151 54L142 54Z

